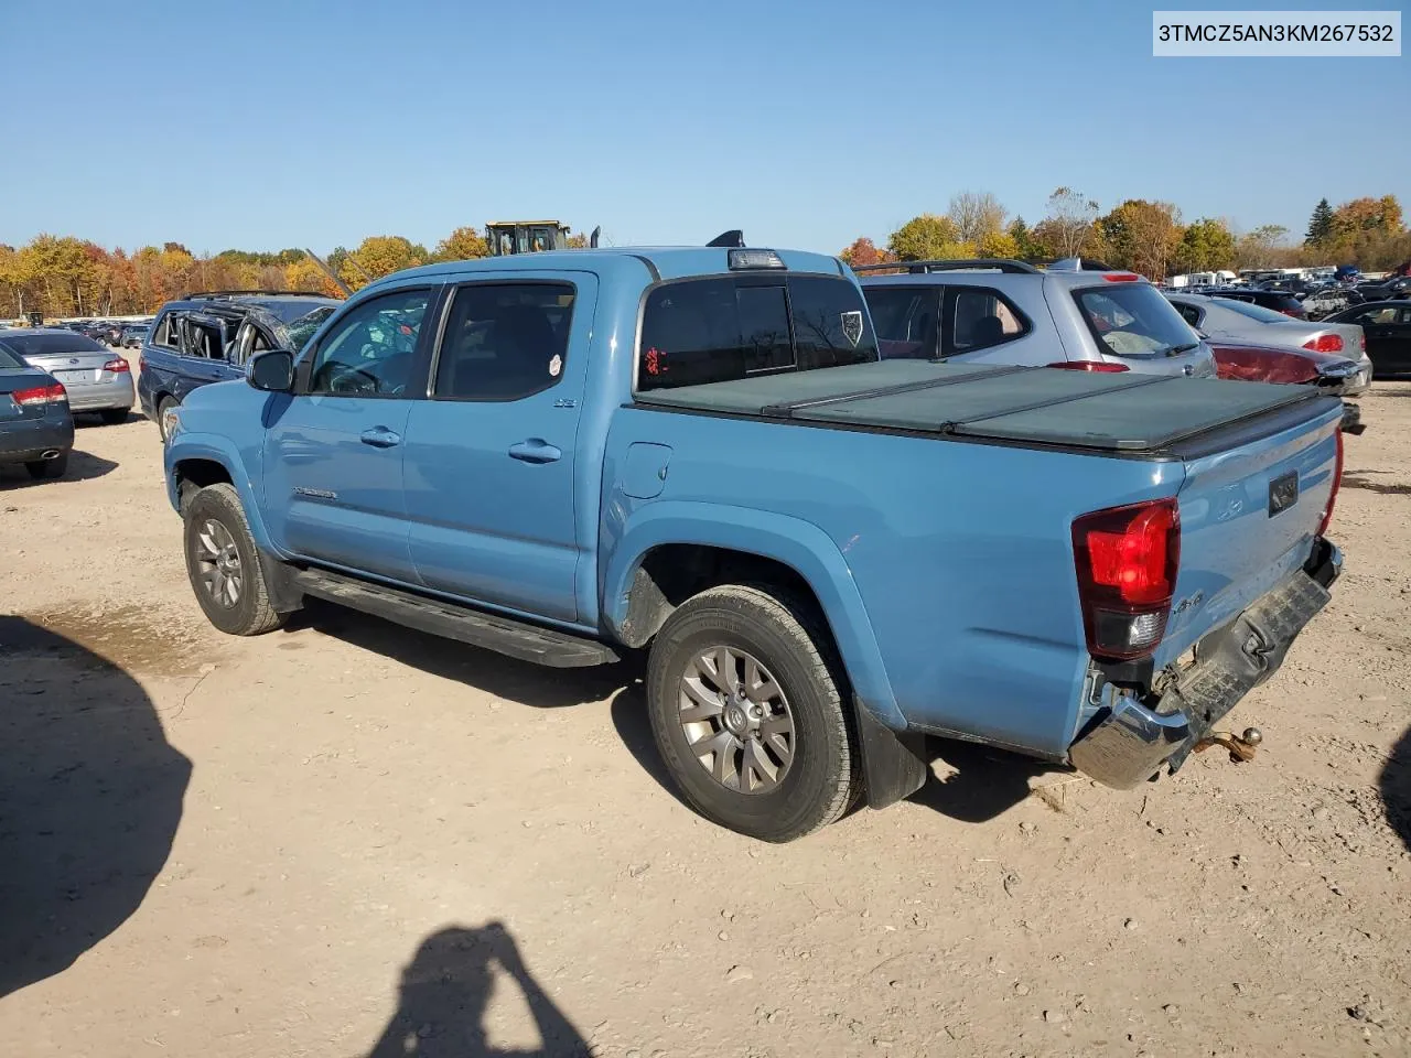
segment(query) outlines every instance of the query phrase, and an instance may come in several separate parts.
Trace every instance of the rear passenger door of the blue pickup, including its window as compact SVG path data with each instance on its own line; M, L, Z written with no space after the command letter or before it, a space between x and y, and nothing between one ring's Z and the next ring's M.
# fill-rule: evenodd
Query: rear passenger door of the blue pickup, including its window
M597 281L487 276L450 293L430 399L406 426L406 508L422 583L491 607L573 622L574 477ZM594 458L594 456L584 456Z

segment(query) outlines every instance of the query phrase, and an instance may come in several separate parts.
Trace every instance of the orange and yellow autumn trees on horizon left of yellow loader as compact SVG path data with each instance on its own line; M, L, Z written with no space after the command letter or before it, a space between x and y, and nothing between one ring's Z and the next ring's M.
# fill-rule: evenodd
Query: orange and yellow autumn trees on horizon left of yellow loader
M587 244L584 234L569 237L569 245ZM349 289L357 291L402 268L488 255L490 245L478 229L459 227L430 250L402 236L368 236L353 250L334 248L325 260ZM47 317L131 316L155 312L162 302L192 291L253 289L341 296L323 269L298 248L196 255L181 243L164 243L127 253L49 234L23 247L0 244L0 319L30 312Z

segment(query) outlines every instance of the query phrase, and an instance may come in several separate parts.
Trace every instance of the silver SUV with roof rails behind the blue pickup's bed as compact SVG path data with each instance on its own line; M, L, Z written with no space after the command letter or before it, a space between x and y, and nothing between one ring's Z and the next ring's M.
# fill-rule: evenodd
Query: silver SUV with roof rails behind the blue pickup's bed
M1215 375L1211 350L1160 291L1096 261L1044 269L903 261L855 271L883 358ZM873 274L882 271L893 274Z

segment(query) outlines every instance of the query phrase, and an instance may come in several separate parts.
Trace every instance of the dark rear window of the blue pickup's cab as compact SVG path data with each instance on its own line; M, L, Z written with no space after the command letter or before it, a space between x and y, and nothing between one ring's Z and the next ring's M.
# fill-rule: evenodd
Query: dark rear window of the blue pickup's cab
M865 364L878 343L847 279L718 276L648 293L638 358L646 391Z

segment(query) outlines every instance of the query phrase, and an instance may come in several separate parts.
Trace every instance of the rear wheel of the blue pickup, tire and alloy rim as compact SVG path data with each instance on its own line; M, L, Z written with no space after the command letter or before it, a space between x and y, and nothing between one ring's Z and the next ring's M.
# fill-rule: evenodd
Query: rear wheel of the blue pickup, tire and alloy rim
M728 652L725 659L718 647ZM751 679L749 663L755 662L756 686L777 690L777 697L768 691L721 695L710 673L718 671L722 660L742 681ZM687 690L687 679L694 681L693 691ZM772 588L728 584L687 600L666 619L648 660L652 734L682 796L713 822L761 841L801 838L837 820L851 804L858 786L858 752L845 705L848 694L821 616ZM763 719L751 721L755 704L765 700L770 704L762 707ZM711 715L687 722L684 711ZM786 721L787 756L777 752L782 742L776 739ZM759 728L735 738L749 722ZM724 749L710 752L707 765L706 753L693 743Z

